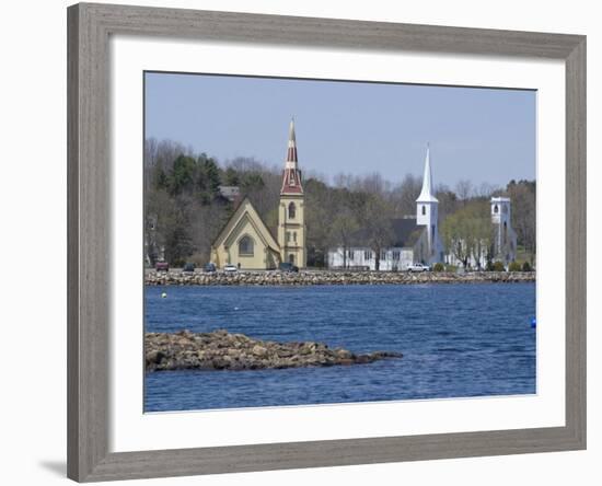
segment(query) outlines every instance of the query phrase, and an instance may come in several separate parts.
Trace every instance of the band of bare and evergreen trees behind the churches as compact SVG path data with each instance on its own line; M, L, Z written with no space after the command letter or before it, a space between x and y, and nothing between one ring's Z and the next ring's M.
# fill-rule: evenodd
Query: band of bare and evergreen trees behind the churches
M327 250L369 246L380 264L381 250L394 242L392 220L416 215L421 177L406 175L398 184L380 174L338 174L328 183L319 174L303 174L308 265L327 264ZM209 262L211 243L232 212L235 202L220 186L238 186L240 199L248 197L273 234L277 234L281 167L253 158L218 161L206 153L171 140L144 142L144 242L147 261L160 257L178 266L184 262ZM452 241L468 242L464 252L475 252L490 238L488 200L512 198L512 225L523 258L535 252L535 182L511 181L507 187L475 187L461 181L452 189L436 188L439 221L448 251ZM359 231L361 230L361 232ZM487 230L489 233L487 233ZM361 241L358 241L361 233ZM481 253L479 253L481 254ZM459 257L461 256L461 257ZM465 255L456 255L459 261Z

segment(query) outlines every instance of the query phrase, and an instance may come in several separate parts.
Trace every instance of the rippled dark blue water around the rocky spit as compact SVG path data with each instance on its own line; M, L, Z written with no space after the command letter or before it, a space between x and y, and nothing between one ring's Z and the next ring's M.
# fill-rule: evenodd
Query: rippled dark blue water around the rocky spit
M404 354L351 367L147 373L146 412L536 392L534 284L147 287L144 300L147 332L227 328Z

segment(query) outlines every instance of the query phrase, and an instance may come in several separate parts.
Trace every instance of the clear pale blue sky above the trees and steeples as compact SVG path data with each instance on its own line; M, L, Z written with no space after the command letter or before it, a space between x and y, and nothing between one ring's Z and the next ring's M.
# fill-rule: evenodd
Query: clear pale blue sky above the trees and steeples
M534 91L146 73L146 136L220 161L283 164L294 116L299 163L332 177L421 175L505 186L535 178Z

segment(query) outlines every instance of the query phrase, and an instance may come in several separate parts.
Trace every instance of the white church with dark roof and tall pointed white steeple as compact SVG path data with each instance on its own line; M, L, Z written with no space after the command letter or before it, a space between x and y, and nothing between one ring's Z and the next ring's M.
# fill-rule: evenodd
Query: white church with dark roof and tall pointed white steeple
M393 243L382 248L380 255L361 244L368 240L368 234L364 229L358 230L351 238L357 244L328 250L328 268L375 270L378 262L379 270L405 270L413 263L433 265L443 262L438 207L439 201L432 189L430 149L427 148L422 189L416 199L416 217L395 218L390 221Z

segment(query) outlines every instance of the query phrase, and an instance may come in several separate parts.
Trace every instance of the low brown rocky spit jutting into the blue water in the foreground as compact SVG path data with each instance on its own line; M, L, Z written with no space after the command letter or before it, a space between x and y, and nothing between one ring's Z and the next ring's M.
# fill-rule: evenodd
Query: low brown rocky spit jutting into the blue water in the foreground
M356 355L331 349L322 343L276 343L253 339L225 329L212 333L147 333L147 371L162 370L261 370L336 364L364 364L380 359L401 358L401 352L374 351Z

